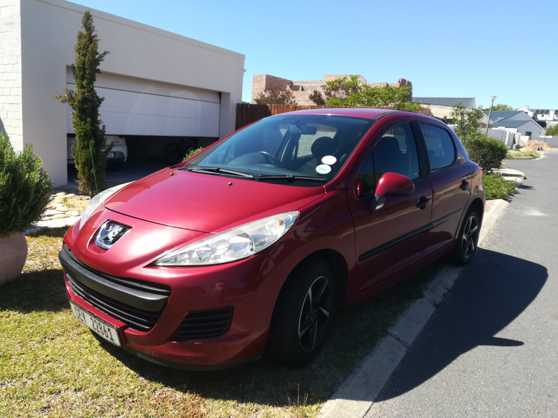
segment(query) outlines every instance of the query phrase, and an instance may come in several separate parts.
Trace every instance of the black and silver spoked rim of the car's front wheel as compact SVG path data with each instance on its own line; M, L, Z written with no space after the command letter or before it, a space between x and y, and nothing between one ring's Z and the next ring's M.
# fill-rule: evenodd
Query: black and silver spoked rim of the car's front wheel
M308 289L299 318L299 342L306 353L322 341L330 313L331 286L325 276L320 276Z

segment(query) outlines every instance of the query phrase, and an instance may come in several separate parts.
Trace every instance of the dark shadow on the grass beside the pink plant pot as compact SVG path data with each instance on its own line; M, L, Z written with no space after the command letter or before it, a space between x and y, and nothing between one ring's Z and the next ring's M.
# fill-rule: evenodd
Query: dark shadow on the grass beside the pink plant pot
M0 311L21 313L68 309L62 270L41 270L20 274L0 288Z

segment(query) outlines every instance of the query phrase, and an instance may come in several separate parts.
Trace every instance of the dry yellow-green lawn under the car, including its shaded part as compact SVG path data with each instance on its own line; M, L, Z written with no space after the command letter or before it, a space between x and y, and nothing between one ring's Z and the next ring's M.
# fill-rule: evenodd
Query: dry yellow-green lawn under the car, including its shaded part
M130 355L73 318L57 259L63 233L28 236L24 273L0 290L2 417L312 417L439 268L340 311L306 367L262 359L193 373Z

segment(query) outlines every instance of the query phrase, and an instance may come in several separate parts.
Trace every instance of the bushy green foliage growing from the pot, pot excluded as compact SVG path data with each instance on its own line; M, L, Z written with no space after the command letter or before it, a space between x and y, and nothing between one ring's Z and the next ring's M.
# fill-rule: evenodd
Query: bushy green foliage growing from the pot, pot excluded
M0 237L24 232L43 217L52 181L43 161L26 144L15 153L8 135L0 132Z

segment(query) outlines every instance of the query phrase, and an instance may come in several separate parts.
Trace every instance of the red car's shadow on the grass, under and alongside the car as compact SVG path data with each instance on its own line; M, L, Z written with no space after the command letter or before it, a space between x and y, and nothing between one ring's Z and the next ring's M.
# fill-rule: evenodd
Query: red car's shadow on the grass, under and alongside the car
M188 372L151 364L104 340L100 344L119 361L147 380L182 392L242 403L286 406L300 391L308 404L324 402L370 353L393 321L413 300L422 297L425 284L443 267L436 263L387 291L340 311L322 353L305 367L283 367L267 359L212 372Z

